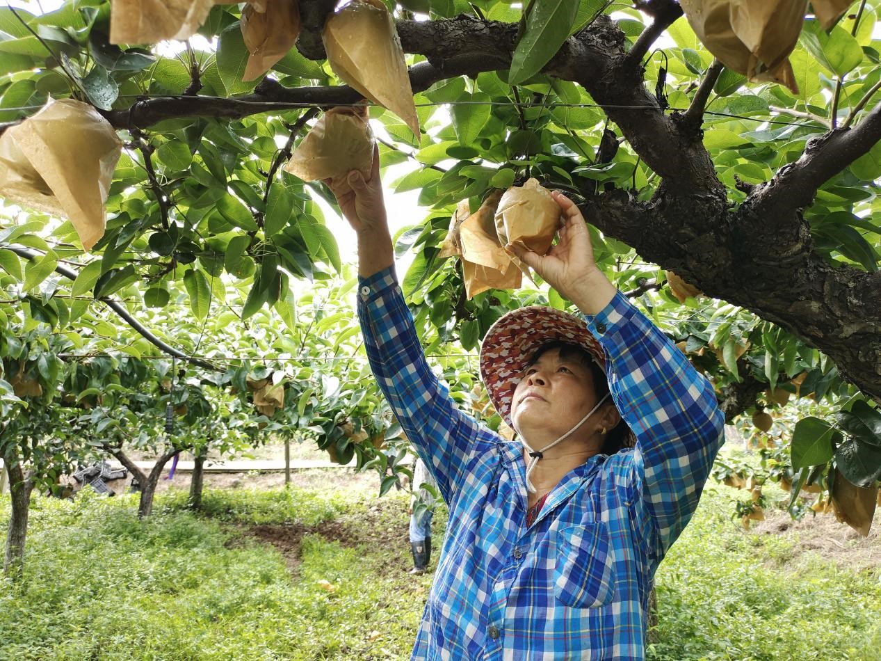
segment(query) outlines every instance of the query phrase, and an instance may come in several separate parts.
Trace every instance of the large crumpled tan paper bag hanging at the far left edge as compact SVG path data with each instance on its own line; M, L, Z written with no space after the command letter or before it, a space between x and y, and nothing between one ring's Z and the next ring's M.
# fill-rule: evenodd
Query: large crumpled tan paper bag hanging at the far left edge
M122 142L87 103L49 100L0 137L0 195L70 219L86 250L104 234L104 202Z

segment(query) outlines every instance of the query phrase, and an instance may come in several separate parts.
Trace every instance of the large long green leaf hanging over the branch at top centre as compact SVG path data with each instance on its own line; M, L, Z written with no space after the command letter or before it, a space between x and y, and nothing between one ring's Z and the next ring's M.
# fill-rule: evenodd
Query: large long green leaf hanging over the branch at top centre
M508 82L518 85L542 70L569 36L578 15L572 0L532 0L517 39Z

